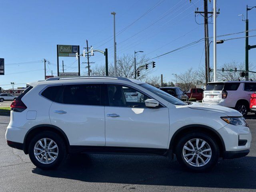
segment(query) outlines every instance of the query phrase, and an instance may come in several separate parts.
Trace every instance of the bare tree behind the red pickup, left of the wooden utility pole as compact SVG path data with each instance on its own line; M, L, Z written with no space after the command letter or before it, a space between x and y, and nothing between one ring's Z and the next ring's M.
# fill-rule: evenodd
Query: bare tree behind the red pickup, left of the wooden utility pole
M190 68L186 72L177 75L177 79L177 86L182 90L188 91L195 85L196 73Z

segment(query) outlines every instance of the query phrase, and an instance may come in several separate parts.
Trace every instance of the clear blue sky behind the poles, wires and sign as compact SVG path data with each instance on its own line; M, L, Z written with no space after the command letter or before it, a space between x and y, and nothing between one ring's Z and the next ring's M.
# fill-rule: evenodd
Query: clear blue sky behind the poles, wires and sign
M242 16L246 16L246 4L256 6L255 0L217 0L220 14L217 18L217 35L233 34L245 30ZM5 75L0 75L0 87L24 87L26 82L44 79L46 75L57 73L57 44L80 45L80 52L86 46L105 50L108 61L114 62L113 15L116 12L116 52L134 54L144 51L149 59L180 48L204 38L203 17L196 16L198 8L203 11L203 0L44 0L44 1L1 1L0 2L0 58L5 59ZM213 8L213 0L208 3L208 11ZM248 11L249 30L256 29L256 8ZM213 18L212 18L213 19ZM209 22L211 18L209 18ZM249 36L256 31L249 32ZM209 24L209 37L213 36L213 25ZM244 62L244 33L223 36L227 40L217 45L217 68L224 63ZM211 40L210 40L211 41ZM249 38L250 45L256 45L256 37ZM213 43L210 44L210 67L213 68ZM65 72L78 72L75 57L60 57L64 60ZM86 58L80 58L81 73ZM204 41L188 48L149 60L155 61L152 76L163 74L165 81L175 81L175 76L188 68L198 70L204 66ZM104 55L95 52L90 57L94 66L105 65ZM256 65L256 49L249 50L250 65ZM60 66L60 69L62 66Z

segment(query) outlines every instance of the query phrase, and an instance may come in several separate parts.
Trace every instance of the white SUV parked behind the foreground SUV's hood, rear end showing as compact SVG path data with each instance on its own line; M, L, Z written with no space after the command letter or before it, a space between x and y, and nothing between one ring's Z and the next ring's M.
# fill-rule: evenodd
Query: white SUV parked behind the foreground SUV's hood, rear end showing
M235 108L243 116L250 110L250 96L256 92L255 81L223 81L208 83L203 103Z

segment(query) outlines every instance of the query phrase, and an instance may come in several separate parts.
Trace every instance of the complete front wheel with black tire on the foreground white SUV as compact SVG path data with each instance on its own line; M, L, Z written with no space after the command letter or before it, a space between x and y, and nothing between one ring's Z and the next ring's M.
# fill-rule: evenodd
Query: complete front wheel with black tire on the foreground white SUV
M197 145L199 150L196 148L197 140L199 141ZM194 150L192 150L193 148L189 144L189 141L192 145L194 145ZM202 146L203 142L206 142L204 146ZM186 150L185 147L188 147L190 150ZM214 138L202 132L190 132L182 136L176 146L175 152L177 160L180 164L184 165L189 170L196 172L211 170L218 162L220 153L218 144ZM201 159L204 161L204 163Z

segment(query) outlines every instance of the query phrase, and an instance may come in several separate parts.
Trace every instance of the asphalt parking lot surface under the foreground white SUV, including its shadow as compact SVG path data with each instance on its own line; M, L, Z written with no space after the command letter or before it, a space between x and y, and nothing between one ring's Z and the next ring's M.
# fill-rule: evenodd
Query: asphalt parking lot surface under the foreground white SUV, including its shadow
M256 118L247 121L252 132L248 156L220 159L211 172L184 170L162 156L80 154L57 170L36 168L22 150L6 144L10 117L0 116L0 191L256 191Z

